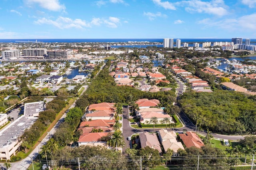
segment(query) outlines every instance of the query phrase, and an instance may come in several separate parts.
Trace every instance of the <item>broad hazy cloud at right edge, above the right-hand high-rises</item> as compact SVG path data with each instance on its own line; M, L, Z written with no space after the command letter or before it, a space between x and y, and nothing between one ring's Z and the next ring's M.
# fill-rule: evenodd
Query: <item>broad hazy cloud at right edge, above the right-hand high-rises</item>
M227 31L240 31L246 30L247 32L256 31L256 13L246 16L241 16L240 18L229 18L219 21L213 21L209 18L201 20L198 24L204 24L205 28L221 28Z

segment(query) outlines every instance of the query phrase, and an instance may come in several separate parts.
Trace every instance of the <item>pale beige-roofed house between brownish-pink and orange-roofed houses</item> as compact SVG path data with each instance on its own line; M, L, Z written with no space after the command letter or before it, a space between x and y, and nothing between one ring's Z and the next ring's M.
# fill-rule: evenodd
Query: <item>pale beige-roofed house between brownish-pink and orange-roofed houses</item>
M168 132L166 129L159 130L159 140L164 147L164 152L170 148L173 150L174 156L178 156L178 149L183 149L184 147L181 142L177 142L177 135L174 131Z

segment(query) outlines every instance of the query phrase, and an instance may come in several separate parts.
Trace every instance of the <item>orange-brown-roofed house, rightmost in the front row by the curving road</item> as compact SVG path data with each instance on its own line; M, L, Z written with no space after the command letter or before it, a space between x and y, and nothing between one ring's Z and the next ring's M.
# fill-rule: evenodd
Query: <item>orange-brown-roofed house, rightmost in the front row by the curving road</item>
M202 146L204 146L204 143L202 142L202 140L194 132L186 132L183 134L179 134L179 136L187 148L190 148L192 146L201 148Z

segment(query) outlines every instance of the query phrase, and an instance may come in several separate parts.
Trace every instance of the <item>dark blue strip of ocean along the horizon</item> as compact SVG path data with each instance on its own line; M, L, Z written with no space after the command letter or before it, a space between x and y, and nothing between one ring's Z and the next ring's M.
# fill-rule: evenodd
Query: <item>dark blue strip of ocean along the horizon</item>
M180 38L181 42L231 42L231 38ZM160 42L163 38L130 38L130 39L0 39L0 43L15 43L16 41L30 41L30 42L45 42L45 43L74 43L74 42ZM245 40L244 40L245 41ZM243 41L243 42L244 42ZM176 39L174 38L174 42ZM256 39L251 39L251 42L256 42Z

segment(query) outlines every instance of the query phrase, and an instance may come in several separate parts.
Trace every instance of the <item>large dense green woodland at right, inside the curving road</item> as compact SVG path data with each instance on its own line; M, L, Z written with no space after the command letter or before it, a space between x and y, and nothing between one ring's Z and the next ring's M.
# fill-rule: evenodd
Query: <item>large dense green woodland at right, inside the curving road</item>
M235 91L196 93L188 91L179 101L182 110L198 127L227 134L256 132L254 97Z

